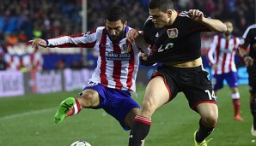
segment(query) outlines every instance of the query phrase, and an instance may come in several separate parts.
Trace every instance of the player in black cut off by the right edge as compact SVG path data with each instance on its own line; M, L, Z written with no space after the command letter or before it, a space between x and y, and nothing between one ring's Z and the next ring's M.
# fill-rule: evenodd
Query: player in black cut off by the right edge
M241 44L239 47L241 49L247 50L247 47L250 45L249 55L243 53L243 61L247 65L247 73L249 75L249 91L251 94L250 97L250 108L251 113L253 114L253 126L252 126L252 135L256 137L256 24L248 26L246 32L244 32ZM246 51L244 51L246 52Z

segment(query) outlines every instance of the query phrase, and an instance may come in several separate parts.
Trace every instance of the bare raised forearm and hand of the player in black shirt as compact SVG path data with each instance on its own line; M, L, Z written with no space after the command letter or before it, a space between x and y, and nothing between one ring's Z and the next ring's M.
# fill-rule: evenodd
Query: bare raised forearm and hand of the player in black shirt
M221 20L205 18L204 13L198 9L190 9L188 15L192 20L198 21L210 28L213 32L226 32L227 26Z

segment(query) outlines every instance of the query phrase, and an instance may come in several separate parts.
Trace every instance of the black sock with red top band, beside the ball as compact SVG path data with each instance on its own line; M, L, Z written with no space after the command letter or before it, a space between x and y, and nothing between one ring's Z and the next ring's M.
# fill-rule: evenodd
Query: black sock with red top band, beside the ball
M129 137L129 146L140 146L141 141L147 137L151 125L149 118L137 115L134 118Z

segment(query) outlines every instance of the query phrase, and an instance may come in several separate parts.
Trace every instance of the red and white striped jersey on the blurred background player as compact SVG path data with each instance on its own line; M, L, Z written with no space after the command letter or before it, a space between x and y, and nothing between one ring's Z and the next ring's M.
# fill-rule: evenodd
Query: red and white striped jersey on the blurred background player
M240 39L233 35L229 40L224 38L223 35L214 36L207 54L210 64L216 64L214 74L236 72L235 52L239 44Z

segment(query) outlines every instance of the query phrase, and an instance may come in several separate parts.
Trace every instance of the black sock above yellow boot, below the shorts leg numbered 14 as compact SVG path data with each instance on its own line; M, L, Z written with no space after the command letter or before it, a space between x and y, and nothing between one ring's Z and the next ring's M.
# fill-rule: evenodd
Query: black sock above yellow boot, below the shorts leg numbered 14
M199 130L196 135L196 141L201 143L206 137L210 135L210 132L213 131L215 126L207 126L202 119L199 120Z

